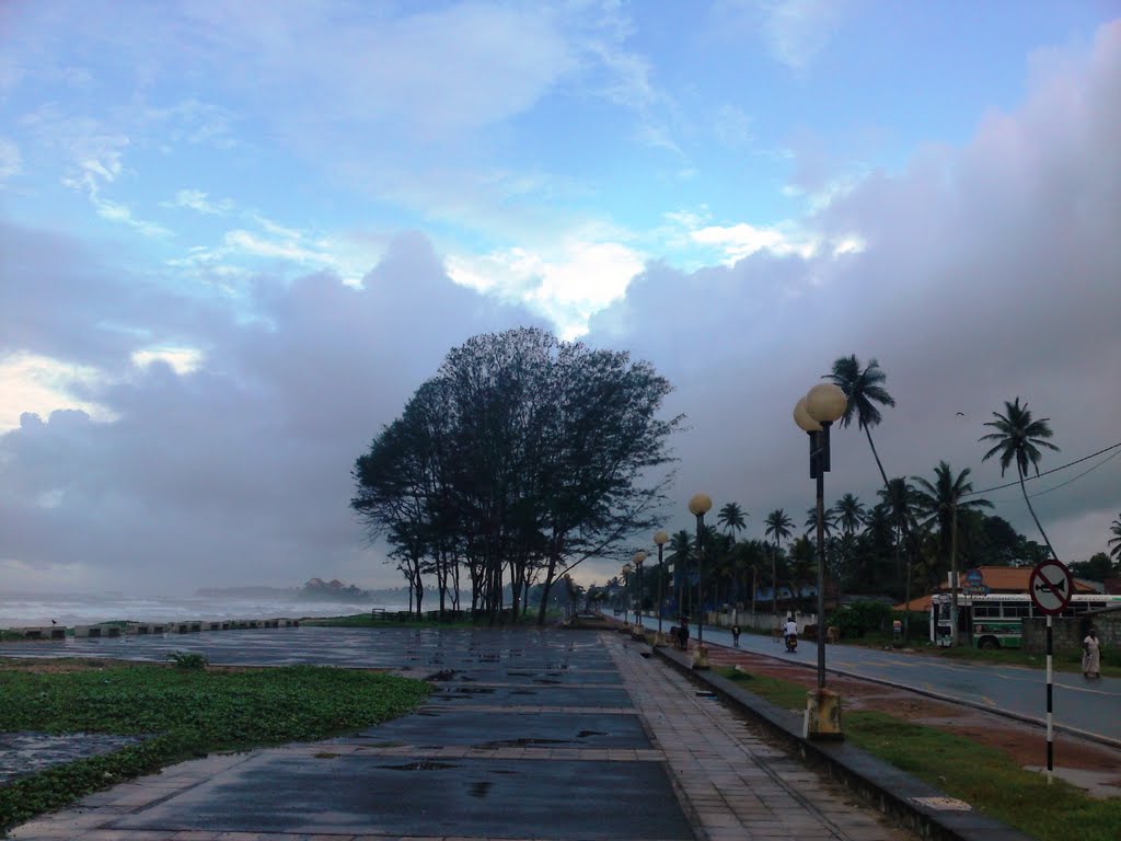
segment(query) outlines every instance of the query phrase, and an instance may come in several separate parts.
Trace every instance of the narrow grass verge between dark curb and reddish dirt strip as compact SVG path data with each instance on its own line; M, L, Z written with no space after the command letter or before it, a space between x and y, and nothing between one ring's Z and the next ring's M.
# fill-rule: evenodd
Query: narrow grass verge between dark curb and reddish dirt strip
M747 691L785 709L804 709L806 687L790 681L717 669ZM1020 768L1006 752L966 737L874 711L844 717L845 739L952 797L1039 841L1117 841L1121 797L1094 800L1056 779Z

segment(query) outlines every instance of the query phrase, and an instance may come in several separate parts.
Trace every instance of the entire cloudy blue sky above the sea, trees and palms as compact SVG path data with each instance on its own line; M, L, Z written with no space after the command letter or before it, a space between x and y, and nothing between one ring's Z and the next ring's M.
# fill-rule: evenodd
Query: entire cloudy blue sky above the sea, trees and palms
M521 325L674 383L670 530L698 491L802 526L790 413L842 355L889 475L1015 479L978 438L1016 397L1083 459L1121 442L1118 148L1104 0L9 0L0 592L401 585L351 466ZM1065 561L1110 454L1028 486ZM878 484L835 431L826 503Z

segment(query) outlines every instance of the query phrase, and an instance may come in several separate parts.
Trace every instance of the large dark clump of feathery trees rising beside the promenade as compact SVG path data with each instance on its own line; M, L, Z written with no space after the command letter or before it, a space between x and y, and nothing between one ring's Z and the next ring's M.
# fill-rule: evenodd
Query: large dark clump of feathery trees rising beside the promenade
M398 555L407 516L414 554L445 576L462 558L492 617L507 585L518 614L539 584L544 621L558 576L655 525L680 423L659 417L669 390L626 353L532 329L475 336L358 460L351 505Z

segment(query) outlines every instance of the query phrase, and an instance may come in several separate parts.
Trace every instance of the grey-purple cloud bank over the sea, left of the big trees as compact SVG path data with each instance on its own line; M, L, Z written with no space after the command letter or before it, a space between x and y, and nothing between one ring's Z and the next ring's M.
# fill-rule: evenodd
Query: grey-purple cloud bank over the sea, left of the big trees
M13 320L36 324L12 346L113 372L84 396L118 417L25 415L0 436L8 585L151 592L315 574L396 585L348 510L353 460L448 349L532 322L455 286L419 234L399 237L363 288L325 274L262 279L259 320L193 325L160 316L179 297L149 289L136 304L89 255L71 258L66 238L10 227L0 238L25 243L6 277L52 267L50 306L30 293L8 299ZM49 246L39 259L37 246ZM122 327L112 341L106 320ZM133 324L145 334L123 330ZM204 351L198 370L129 367L133 350L172 333Z

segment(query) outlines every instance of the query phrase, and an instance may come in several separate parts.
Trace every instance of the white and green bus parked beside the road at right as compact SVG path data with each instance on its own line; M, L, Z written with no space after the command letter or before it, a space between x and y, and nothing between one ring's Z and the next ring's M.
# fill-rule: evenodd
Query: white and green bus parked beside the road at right
M949 593L930 597L930 641L948 646L952 638ZM1084 616L1094 610L1121 608L1121 595L1075 593L1060 616ZM1031 603L1027 593L990 593L988 595L957 594L957 636L971 636L976 648L1019 648L1021 620L1044 617Z

